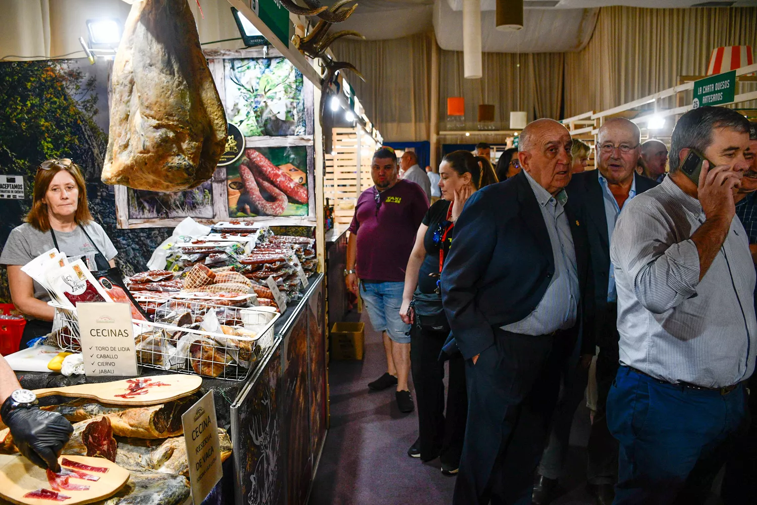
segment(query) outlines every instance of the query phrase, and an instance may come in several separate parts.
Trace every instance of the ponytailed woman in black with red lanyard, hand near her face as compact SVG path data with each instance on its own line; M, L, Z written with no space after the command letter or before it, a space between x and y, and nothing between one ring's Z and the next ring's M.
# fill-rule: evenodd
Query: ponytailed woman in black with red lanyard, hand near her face
M469 151L447 154L439 165L441 200L431 205L416 235L405 271L400 316L410 329L410 362L418 401L419 437L407 451L430 461L439 457L444 475L457 473L466 430L465 361L450 358L447 416L444 416L444 363L441 348L450 327L441 306L439 276L452 243L455 222L477 189L497 182L494 168Z

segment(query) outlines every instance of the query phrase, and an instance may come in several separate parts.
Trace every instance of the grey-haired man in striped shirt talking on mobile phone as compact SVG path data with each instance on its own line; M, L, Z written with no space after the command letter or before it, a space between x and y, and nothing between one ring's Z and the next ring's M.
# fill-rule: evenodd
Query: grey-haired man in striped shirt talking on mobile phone
M703 503L746 426L755 270L734 194L748 148L749 122L736 111L687 112L673 130L670 176L629 201L615 226L615 505ZM703 158L698 179L693 157L682 169L692 150Z

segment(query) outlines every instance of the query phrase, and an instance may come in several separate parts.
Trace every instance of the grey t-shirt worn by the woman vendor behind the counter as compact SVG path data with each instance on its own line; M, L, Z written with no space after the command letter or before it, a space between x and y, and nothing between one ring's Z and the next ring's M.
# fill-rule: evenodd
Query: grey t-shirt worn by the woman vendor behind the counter
M95 255L98 250L108 261L116 257L118 251L98 223L92 221L86 225L86 229L95 242L94 245L84 234L81 226L76 226L73 232L55 232L55 238L58 240L59 251L66 253L69 261L81 258L85 264L92 264L92 270L94 270ZM29 223L23 223L21 226L12 229L11 235L8 235L8 241L5 242L2 254L0 254L0 264L26 265L26 263L54 247L55 244L49 231L40 232L39 229L34 228ZM34 298L42 301L50 300L45 288L37 282L34 282Z

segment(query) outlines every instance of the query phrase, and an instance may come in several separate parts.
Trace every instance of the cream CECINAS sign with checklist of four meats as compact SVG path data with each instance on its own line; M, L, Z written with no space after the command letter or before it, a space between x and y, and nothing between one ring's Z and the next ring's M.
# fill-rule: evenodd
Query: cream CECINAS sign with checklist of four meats
M87 376L136 376L137 357L128 303L77 302Z

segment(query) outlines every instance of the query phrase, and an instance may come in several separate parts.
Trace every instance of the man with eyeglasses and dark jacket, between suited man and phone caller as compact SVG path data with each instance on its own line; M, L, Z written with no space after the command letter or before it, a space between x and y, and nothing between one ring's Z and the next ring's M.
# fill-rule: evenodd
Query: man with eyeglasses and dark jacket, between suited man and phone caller
M618 472L618 441L607 431L605 401L618 371L618 330L615 325L618 306L609 245L615 221L624 205L637 194L657 185L637 175L635 169L639 154L638 126L621 117L606 120L597 136L598 170L574 173L565 188L568 207L582 207L583 214L587 216L594 273L594 324L590 331L584 331L584 341L576 345L572 360L562 371L562 397L553 419L550 444L544 450L534 485L533 499L537 505L550 503L555 497L574 413L584 398L595 343L600 348L597 356L598 398L589 438L587 477L597 503L612 503L612 485Z

